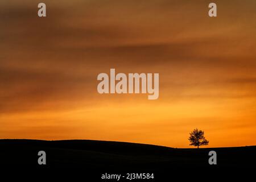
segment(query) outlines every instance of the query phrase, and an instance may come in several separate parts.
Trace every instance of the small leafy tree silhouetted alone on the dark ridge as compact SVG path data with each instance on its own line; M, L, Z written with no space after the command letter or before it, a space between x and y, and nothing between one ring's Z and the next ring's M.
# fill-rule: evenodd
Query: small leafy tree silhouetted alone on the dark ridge
M199 148L199 146L207 146L209 143L209 140L205 139L204 131L202 130L194 129L189 135L190 146L197 146Z

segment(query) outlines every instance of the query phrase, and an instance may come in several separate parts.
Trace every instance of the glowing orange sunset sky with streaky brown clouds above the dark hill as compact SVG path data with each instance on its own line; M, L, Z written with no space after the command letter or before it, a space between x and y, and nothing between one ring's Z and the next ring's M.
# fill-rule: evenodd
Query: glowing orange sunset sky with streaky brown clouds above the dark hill
M256 145L256 2L0 2L0 138L188 148ZM159 98L99 94L97 75L159 73Z

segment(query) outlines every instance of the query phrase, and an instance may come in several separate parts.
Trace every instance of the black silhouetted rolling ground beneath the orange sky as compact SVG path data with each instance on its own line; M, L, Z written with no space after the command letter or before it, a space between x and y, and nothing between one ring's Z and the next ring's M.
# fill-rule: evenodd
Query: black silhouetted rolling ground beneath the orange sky
M45 166L38 164L38 151L41 150L46 151ZM211 150L217 152L217 165L208 163ZM64 176L67 172L76 172L85 179L93 179L90 181L100 180L104 173L154 173L155 179L146 181L172 179L175 175L182 179L189 177L188 174L232 175L237 171L252 171L255 155L256 146L183 149L98 140L0 140L0 164L5 171L43 171L44 175L54 171Z

